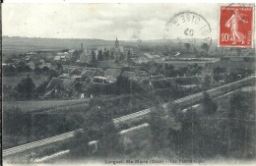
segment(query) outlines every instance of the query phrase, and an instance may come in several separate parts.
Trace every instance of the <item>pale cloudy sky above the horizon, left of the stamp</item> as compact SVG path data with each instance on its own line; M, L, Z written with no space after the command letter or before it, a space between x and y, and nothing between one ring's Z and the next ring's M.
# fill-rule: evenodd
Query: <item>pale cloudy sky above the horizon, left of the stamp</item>
M204 17L217 38L217 4L3 4L2 30L9 36L161 39L181 11Z

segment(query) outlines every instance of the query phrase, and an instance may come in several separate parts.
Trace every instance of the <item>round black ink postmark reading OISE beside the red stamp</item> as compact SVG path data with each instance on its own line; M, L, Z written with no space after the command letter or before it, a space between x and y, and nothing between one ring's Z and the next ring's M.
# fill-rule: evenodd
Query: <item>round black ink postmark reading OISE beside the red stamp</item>
M212 28L201 15L184 11L174 15L164 28L164 41L169 49L204 54L212 44Z

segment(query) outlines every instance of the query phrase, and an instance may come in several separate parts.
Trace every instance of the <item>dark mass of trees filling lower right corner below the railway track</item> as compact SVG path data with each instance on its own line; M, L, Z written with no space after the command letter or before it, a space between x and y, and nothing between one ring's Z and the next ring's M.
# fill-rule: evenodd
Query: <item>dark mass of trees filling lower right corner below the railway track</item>
M174 152L174 157L196 159L255 156L251 133L255 124L249 120L255 117L254 101L248 97L235 94L229 99L229 108L220 112L217 111L217 103L207 93L204 93L201 111L190 108L182 112L179 106L172 105L168 114L174 116L176 123L181 125L177 129L163 119L166 114L157 107L150 121L155 155L167 151L165 157Z

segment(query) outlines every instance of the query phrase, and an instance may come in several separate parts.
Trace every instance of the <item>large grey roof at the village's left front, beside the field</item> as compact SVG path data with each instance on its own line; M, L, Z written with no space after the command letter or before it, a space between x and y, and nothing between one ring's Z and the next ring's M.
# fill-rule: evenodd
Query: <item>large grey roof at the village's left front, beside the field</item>
M59 78L53 78L50 83L46 86L46 89L52 89L56 87L62 87L63 89L67 90L72 88L73 85L75 85L75 80L70 79L59 79Z

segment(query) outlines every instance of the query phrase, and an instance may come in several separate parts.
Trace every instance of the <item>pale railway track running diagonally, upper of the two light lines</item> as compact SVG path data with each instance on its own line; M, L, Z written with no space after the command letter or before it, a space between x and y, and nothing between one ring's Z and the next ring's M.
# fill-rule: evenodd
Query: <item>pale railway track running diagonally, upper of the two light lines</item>
M215 88L207 90L207 91L210 94L212 94L214 97L217 97L218 95L223 95L226 92L230 92L232 90L232 88L230 88L230 90L229 90L227 88L228 86L242 83L242 84L240 84L240 86L241 86L241 85L244 84L244 82L250 81L251 79L255 79L255 77L248 77L248 78L245 78L241 81L237 81L235 83L227 83L227 84L224 84L223 86L215 87ZM229 91L218 93L218 90L222 90L222 89L229 90ZM202 97L202 96L203 96L203 92L199 92L199 93L196 93L196 94L192 94L192 95L188 95L186 97L176 99L176 100L173 101L173 103L182 104L182 103L188 102L190 100L194 100L194 102L190 102L189 104L192 104L192 103L195 104L200 99L200 97ZM166 107L167 103L162 104L162 106ZM113 123L118 124L118 123L122 123L122 122L125 122L125 121L129 121L129 120L134 119L134 118L139 118L139 117L148 115L148 114L151 113L151 110L153 108L145 109L145 110L138 111L138 112L135 112L135 113L132 113L132 114L129 114L129 115L125 115L125 116L122 116L122 117L119 117L119 118L115 118L115 119L113 119ZM80 129L80 130L82 130L82 129ZM77 131L80 131L80 130L77 130ZM16 147L5 149L5 150L3 150L3 157L11 155L11 154L18 153L18 152L22 152L22 151L25 151L25 150L28 150L28 149L32 149L32 148L35 148L35 147L38 147L38 146L42 146L42 145L45 145L45 144L61 141L61 140L64 140L66 138L72 138L74 136L75 132L77 132L77 131L72 131L72 132L65 133L65 134L62 134L62 135L58 135L58 136L55 136L55 137L52 137L52 138L45 138L45 139L33 141L31 143L26 143L26 144L23 144L23 145L19 145L19 146L16 146Z

